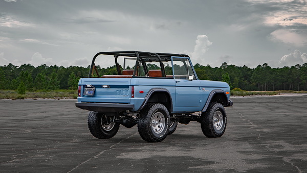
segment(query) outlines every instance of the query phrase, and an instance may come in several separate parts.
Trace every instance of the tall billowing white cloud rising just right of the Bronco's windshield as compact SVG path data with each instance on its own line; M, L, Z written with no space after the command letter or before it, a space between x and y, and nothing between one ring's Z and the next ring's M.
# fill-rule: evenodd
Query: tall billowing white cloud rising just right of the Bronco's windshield
M212 45L212 42L208 40L207 35L198 35L195 41L193 52L184 51L185 54L191 56L195 63L203 64L205 57L204 54L208 51L208 47Z

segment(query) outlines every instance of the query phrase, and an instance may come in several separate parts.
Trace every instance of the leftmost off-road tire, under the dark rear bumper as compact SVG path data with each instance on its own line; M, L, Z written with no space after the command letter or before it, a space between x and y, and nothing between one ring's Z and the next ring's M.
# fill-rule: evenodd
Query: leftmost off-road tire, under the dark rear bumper
M119 129L119 123L108 123L112 117L105 116L104 114L98 114L94 111L89 113L87 118L87 124L91 134L99 139L109 139L116 135ZM106 121L108 120L108 122Z

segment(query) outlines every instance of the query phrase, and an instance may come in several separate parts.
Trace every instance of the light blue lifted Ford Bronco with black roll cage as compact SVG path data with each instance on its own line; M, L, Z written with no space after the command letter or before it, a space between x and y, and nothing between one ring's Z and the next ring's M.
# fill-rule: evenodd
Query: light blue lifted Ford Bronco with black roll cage
M99 74L96 64L115 60L117 75ZM100 72L101 73L101 72ZM178 123L201 123L207 137L221 137L232 106L226 82L199 80L184 54L140 51L99 52L87 78L81 78L76 106L89 110L96 138L112 138L120 124L138 124L142 139L160 142Z

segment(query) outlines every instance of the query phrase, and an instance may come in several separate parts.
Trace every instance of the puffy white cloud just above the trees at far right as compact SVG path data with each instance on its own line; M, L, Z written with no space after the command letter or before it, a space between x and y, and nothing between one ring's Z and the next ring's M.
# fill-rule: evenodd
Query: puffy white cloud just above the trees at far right
M296 64L307 63L307 54L301 53L299 50L295 50L293 53L284 55L279 64L281 66L295 66Z

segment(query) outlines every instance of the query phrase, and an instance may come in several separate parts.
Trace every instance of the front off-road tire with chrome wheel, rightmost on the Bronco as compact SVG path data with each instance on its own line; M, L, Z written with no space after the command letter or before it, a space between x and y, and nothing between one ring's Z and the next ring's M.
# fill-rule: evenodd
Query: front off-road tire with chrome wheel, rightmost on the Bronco
M226 129L227 117L221 103L210 103L206 112L202 113L201 128L208 138L221 137Z

